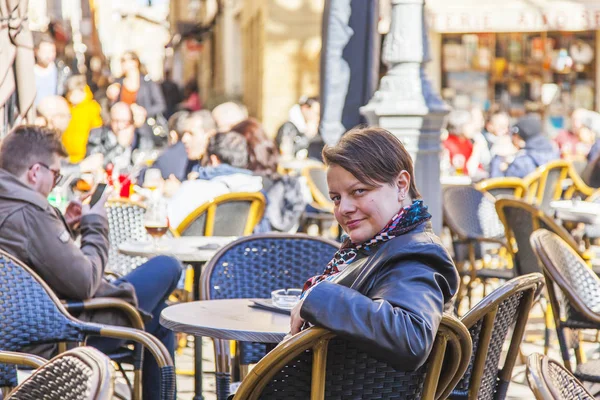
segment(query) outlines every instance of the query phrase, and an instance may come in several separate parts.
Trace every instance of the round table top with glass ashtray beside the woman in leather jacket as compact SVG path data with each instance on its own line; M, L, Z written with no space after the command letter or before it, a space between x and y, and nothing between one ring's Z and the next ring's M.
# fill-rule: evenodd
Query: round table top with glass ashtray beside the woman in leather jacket
M165 308L160 323L175 332L215 339L279 343L290 331L290 317L250 307L249 299L204 300Z

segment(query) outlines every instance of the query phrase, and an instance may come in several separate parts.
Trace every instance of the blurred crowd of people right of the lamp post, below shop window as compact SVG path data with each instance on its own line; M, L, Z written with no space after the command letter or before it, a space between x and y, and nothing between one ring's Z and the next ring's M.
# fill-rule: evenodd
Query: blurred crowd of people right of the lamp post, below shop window
M582 170L600 155L600 114L576 109L570 127L551 138L542 116L528 113L512 121L503 110L487 116L479 108L454 110L443 135L442 174L466 175L473 181L524 178L537 167L565 159Z

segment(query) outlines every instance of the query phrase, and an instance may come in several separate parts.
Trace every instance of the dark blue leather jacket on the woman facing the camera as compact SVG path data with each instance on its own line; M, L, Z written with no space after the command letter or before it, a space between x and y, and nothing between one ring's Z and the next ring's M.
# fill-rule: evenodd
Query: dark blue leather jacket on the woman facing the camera
M355 339L377 359L417 369L433 347L444 305L458 289L452 258L429 223L358 257L336 283L315 286L300 315Z

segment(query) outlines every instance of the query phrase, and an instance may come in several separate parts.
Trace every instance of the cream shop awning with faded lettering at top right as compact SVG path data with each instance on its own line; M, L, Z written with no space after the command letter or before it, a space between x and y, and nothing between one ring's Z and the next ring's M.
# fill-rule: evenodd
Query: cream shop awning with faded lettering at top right
M439 33L600 29L597 0L426 0L426 9Z

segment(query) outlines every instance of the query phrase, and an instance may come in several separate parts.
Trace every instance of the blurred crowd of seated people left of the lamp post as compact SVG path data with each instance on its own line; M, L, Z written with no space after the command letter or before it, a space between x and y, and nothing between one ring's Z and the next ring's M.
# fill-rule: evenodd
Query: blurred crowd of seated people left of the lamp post
M90 187L103 175L143 186L153 168L173 228L211 198L258 191L268 205L257 231L298 226L310 193L301 177L280 173L278 165L280 158L320 158L317 98L301 98L273 140L238 102L209 111L195 82L180 90L168 71L162 83L153 82L134 52L121 56L119 78L99 73L93 59L90 73L73 73L57 61L48 35L37 38L35 54L36 124L57 131L68 154L61 172L72 179L62 190L72 195L82 176L95 180Z

